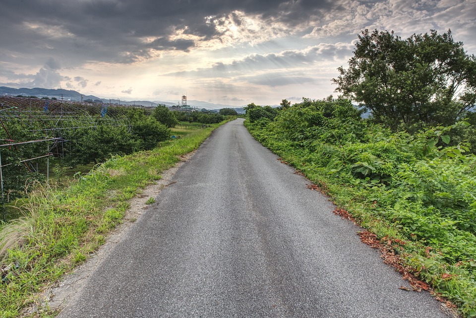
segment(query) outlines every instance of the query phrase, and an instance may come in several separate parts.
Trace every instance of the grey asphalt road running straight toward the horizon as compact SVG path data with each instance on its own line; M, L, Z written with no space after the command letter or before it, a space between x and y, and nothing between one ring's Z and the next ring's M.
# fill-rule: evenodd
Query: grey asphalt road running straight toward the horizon
M242 120L217 129L61 318L446 317Z

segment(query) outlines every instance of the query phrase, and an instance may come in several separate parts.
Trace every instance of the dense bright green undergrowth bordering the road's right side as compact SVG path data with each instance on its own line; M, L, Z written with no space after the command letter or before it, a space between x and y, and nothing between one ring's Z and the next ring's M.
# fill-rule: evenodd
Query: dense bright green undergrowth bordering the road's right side
M273 120L250 116L245 125L362 226L407 242L400 252L406 265L475 317L476 156L453 140L455 130L470 124L409 134L360 113L343 98L303 99Z

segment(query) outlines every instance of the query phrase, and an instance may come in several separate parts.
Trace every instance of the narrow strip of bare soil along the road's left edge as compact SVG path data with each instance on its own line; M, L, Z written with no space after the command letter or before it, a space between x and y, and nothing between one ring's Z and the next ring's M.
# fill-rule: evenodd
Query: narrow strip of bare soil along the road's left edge
M112 253L114 247L120 242L122 237L127 233L130 226L142 215L148 208L145 203L150 197L156 197L164 188L174 184L173 180L175 173L180 166L188 161L195 152L180 156L180 161L175 167L170 168L161 173L162 179L155 184L147 186L140 194L132 198L130 208L125 212L123 222L114 229L106 238L106 243L99 248L99 250L90 256L90 258L83 264L76 267L72 273L66 274L57 286L49 288L44 295L44 306L50 311L60 311L68 301L77 295L81 286L85 284L87 278L94 272L103 259ZM31 312L42 312L42 310L35 308Z

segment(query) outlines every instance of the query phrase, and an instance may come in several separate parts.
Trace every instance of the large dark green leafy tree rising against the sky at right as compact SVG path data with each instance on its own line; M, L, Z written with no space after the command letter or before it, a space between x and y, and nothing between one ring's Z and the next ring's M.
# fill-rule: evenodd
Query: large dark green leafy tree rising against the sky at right
M476 102L476 58L454 41L450 30L406 40L393 31L365 30L349 68L338 70L336 91L392 129L402 124L451 125Z

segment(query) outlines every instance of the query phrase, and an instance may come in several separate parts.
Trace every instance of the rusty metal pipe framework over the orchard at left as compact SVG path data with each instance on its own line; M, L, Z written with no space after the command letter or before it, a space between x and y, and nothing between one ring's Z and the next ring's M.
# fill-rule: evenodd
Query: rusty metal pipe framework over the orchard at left
M61 157L64 154L64 143L67 140L62 138L63 132L78 128L94 129L98 122L101 122L101 125L126 126L129 131L131 128L130 122L124 113L124 106L0 96L0 138L2 138L0 139L0 186L2 203L5 202L5 167L21 164L29 172L38 172L38 161L46 158L46 175L47 182L49 182L50 157ZM18 125L21 125L21 131L18 130ZM36 136L36 138L29 139L25 136ZM5 147L8 147L8 150L11 151L34 143L45 144L46 151L40 155L35 155L33 158L21 158L17 162L2 161L1 150ZM3 209L4 219L5 209Z

